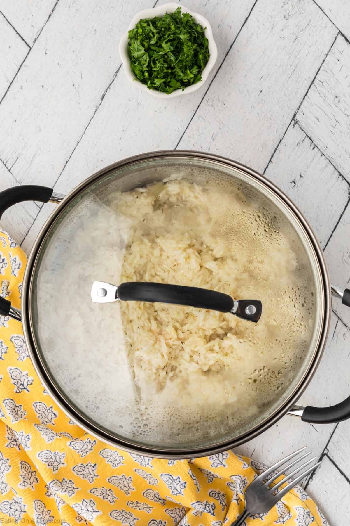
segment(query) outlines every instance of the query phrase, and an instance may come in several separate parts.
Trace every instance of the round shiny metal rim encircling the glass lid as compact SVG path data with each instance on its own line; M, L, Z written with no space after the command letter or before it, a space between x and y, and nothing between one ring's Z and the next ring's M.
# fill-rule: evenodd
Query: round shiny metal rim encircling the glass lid
M89 187L94 181L97 181L100 177L108 175L109 172L114 171L115 169L120 169L126 166L132 166L133 164L140 163L140 161L149 161L153 159L170 159L170 158L194 158L194 159L204 159L208 161L214 161L219 165L229 166L231 168L234 168L236 170L241 171L243 175L248 175L252 177L253 179L258 180L261 184L266 186L269 190L273 192L275 196L280 198L284 205L286 205L289 210L292 212L296 220L301 225L302 229L305 231L305 234L307 235L307 238L309 239L312 249L314 250L315 258L317 260L317 263L319 265L319 271L321 274L321 281L322 281L322 291L323 296L320 298L322 301L322 326L320 329L320 335L315 343L315 349L313 352L313 356L310 358L310 363L307 369L304 372L304 375L298 382L298 385L296 385L293 389L293 392L289 396L289 398L282 404L282 406L277 407L275 411L268 417L266 420L261 422L258 426L253 428L252 430L245 431L238 437L231 439L231 440L225 440L222 442L219 442L215 445L209 445L209 446L203 446L199 448L191 448L191 449L160 449L157 447L143 447L140 444L133 443L129 440L121 440L113 436L112 433L108 432L107 430L104 430L100 426L98 426L96 423L93 423L92 421L89 421L88 418L85 418L82 416L82 414L79 414L74 407L70 404L69 400L66 396L63 396L59 389L56 387L55 382L50 378L50 375L48 374L48 371L46 370L43 361L40 358L40 353L37 350L37 346L35 343L35 339L33 336L33 319L31 317L31 309L30 309L30 298L31 298L31 291L33 287L33 270L35 269L36 262L38 259L38 255L40 252L41 247L43 246L45 239L50 231L51 226L55 223L55 221L58 219L58 216L62 213L63 209L66 208L66 206L75 199L81 191ZM47 391L50 393L50 396L54 399L54 401L57 403L57 405L62 409L63 412L68 414L68 416L75 421L84 431L87 431L88 433L91 433L94 437L102 440L105 443L108 443L112 447L120 447L124 451L128 451L131 453L142 453L146 456L150 456L153 458L166 458L166 459L188 459L188 458L194 458L194 457L204 457L208 456L209 454L215 454L220 453L222 451L226 451L229 449L232 449L234 447L240 446L240 444L247 442L248 440L251 440L254 437L257 437L260 433L263 431L266 431L269 427L271 427L275 422L277 422L282 416L284 416L285 413L287 413L292 406L294 406L295 402L300 398L303 391L306 389L306 387L309 385L309 382L311 381L319 362L322 358L323 351L325 348L325 343L328 336L328 330L330 327L330 320L331 320L331 284L330 284L330 278L328 276L328 270L325 262L325 258L321 249L321 246L319 244L319 241L317 241L317 238L314 235L314 232L309 225L309 222L304 218L303 214L299 210L298 207L295 206L293 201L284 194L282 190L280 190L277 186L275 186L271 181L269 181L266 177L259 174L257 171L253 170L252 168L249 168L246 165L243 165L241 163L238 163L237 161L232 161L231 159L228 159L226 157L214 155L214 154L208 154L203 153L200 151L194 151L194 150L160 150L160 151L152 151L149 153L139 154L132 157L128 157L126 159L122 159L116 163L113 163L105 168L102 168L101 170L97 171L87 179L84 179L79 185L77 185L75 188L73 188L69 194L60 202L60 204L57 206L57 208L52 212L52 214L49 216L47 221L45 222L43 228L41 228L36 241L34 243L33 248L30 251L27 266L25 270L24 280L23 280L23 292L22 292L22 322L23 322L23 331L24 331L24 337L27 343L28 352L30 359L34 365L34 368L43 383L44 387L47 389Z

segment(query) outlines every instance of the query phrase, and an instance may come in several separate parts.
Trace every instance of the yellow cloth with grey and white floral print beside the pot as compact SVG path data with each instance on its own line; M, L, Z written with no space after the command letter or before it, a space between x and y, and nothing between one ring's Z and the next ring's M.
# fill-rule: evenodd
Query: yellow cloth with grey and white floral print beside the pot
M0 231L0 295L20 308L26 256ZM64 342L63 342L64 345ZM263 467L231 451L158 460L112 448L59 409L20 322L0 316L0 521L40 526L229 526ZM302 490L246 526L326 526Z

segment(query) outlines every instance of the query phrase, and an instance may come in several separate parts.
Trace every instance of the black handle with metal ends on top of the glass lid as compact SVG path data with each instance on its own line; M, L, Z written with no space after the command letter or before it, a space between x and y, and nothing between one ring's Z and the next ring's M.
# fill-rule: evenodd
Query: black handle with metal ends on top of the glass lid
M262 312L259 300L233 300L228 294L216 290L142 281L122 283L118 287L103 281L94 281L91 298L97 303L121 300L187 305L231 312L239 318L254 322L259 321Z

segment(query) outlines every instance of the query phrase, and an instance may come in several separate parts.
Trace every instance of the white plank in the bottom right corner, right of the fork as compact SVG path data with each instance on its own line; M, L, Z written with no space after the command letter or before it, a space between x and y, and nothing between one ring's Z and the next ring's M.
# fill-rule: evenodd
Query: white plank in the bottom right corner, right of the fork
M350 484L327 457L306 492L319 505L331 526L347 526Z

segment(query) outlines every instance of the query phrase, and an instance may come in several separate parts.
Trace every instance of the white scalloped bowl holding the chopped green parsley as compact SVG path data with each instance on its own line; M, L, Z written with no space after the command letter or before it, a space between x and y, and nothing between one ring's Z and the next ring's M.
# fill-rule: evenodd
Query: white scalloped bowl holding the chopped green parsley
M201 72L201 80L197 82L196 84L192 84L192 86L188 86L184 90L182 89L175 89L172 93L167 95L163 92L158 92L156 89L149 89L145 84L142 84L139 80L135 78L135 75L130 67L130 58L129 58L129 52L128 52L128 41L129 41L129 31L130 29L133 29L137 22L141 20L141 18L153 18L155 16L163 16L168 13L172 13L177 9L177 7L181 7L182 13L189 13L193 16L196 22L200 24L202 27L206 27L205 29L205 36L208 39L208 45L209 45L209 53L210 57L209 60L203 69L203 72ZM171 98L171 97L178 97L179 95L185 95L186 93L192 93L195 92L196 89L199 89L203 84L206 82L208 75L210 73L211 68L213 68L217 56L218 56L218 50L214 41L213 32L211 31L211 27L209 22L207 21L204 16L199 15L198 13L194 13L193 11L190 11L187 7L181 4L175 4L174 2L163 4L157 7L153 7L152 9L144 9L144 11L140 11L140 13L137 13L132 21L129 24L128 31L124 33L122 38L120 39L119 43L119 53L122 59L122 63L124 65L124 71L130 82L132 82L135 86L143 89L146 92L149 92L154 97L158 98Z

